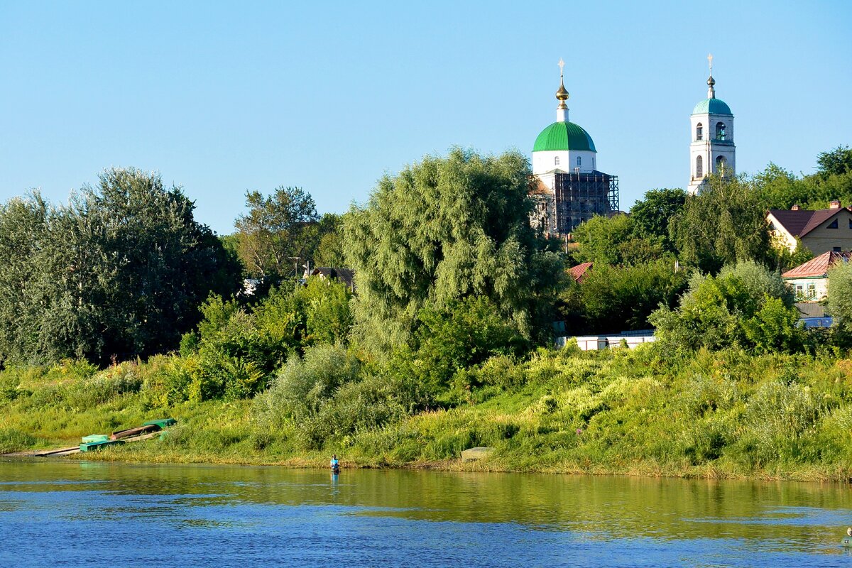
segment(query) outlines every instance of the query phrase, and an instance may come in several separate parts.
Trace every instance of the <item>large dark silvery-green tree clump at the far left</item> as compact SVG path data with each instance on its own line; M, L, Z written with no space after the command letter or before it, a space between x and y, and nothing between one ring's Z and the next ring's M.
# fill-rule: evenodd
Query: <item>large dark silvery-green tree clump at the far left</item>
M177 347L239 267L159 175L108 169L70 203L0 208L0 360L106 363Z

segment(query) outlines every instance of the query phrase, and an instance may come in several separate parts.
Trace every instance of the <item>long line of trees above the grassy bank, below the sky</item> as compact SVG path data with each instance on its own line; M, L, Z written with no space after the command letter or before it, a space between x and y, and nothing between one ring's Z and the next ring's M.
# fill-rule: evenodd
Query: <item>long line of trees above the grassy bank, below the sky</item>
M0 362L108 364L176 350L181 338L191 353L211 345L216 326L243 325L245 337L227 343L242 347L222 347L236 359L282 342L268 347L279 355L258 359L262 372L318 341L343 341L383 360L419 353L432 361L428 381L446 383L489 354L545 345L555 319L575 334L674 330L671 314L701 298L725 303L743 321L774 310L777 324L792 313L780 292L770 297L781 304L757 299L747 309L723 299L738 286L752 290L736 284L757 278L741 274L757 268L734 268L743 262L777 274L809 257L772 242L766 209L852 200L852 151L840 146L817 163L813 175L770 164L750 177L711 178L697 196L649 191L630 215L585 222L567 253L529 225L531 171L518 152L427 156L383 176L366 204L343 215L319 215L302 188L250 191L235 232L223 237L194 219L180 187L137 169L108 169L67 204L32 192L0 206ZM580 261L594 267L577 284L566 271ZM357 275L354 298L329 300L333 337L308 330L308 307L325 305L332 291L315 290L307 303L293 295L308 262ZM244 278L262 283L256 295L245 295ZM213 317L217 301L227 318ZM292 317L282 316L289 331L280 323L245 327L257 313L274 312L268 301L290 302ZM760 322L749 325L730 337L755 348L783 343L756 339Z

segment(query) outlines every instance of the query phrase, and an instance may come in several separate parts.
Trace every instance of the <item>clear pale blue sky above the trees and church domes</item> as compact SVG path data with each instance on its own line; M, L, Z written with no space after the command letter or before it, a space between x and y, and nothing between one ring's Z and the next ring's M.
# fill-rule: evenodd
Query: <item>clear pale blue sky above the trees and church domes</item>
M0 0L0 201L54 201L110 166L156 169L233 231L245 191L320 212L451 146L532 151L571 120L621 208L688 181L689 113L734 112L737 167L812 172L852 144L852 3Z

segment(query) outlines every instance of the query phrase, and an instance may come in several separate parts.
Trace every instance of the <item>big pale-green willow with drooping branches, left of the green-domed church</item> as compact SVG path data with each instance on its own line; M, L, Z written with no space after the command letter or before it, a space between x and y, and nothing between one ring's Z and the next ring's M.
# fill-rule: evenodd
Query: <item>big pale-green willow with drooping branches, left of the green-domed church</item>
M529 225L530 169L518 152L454 149L385 175L344 220L355 271L355 335L375 352L406 342L424 307L485 296L524 336L548 322L561 262Z

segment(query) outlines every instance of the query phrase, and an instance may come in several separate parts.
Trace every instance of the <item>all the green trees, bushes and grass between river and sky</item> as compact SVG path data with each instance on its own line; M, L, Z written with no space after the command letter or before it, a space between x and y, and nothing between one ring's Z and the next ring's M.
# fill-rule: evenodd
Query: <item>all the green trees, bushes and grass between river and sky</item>
M837 171L807 184L787 176L781 185L822 193L826 184L843 186L852 152L838 148L823 158ZM9 267L26 267L41 284L0 271L7 275L0 315L11 322L23 305L33 326L17 322L0 335L0 452L173 416L179 425L164 439L87 457L322 465L337 453L366 467L847 481L852 267L831 273L837 325L801 328L779 269L809 253L775 249L760 221L780 192L770 173L715 179L695 197L648 192L634 215L580 227L579 249L568 253L529 227L528 165L514 153L424 158L384 177L368 204L342 218L320 220L301 190L279 188L271 198L252 192L250 214L219 243L194 224L179 190L158 189L156 177L135 171L106 175L102 192L121 195L130 180L131 188L170 196L166 210L174 210L169 203L184 208L177 234L189 227L188 236L159 256L121 249L163 250L146 239L128 244L89 230L94 223L147 231L145 223L126 222L133 216L126 209L124 221L110 221L106 203L93 221L82 207L66 213L37 199L14 201L0 209L3 227L15 229L4 235L26 234L33 218L58 232L89 223L63 246L98 253L86 260L100 271L92 282L105 297L112 286L127 287L123 274L156 290L170 282L170 262L187 266L186 254L206 263L205 274L220 276L208 283L197 316L187 302L204 278L193 280L192 296L171 292L181 318L165 335L134 324L146 310L158 314L156 322L170 317L147 292L130 296L129 314L119 313L121 301L104 311L100 295L81 294L77 265L49 250L57 234L39 253L52 259L46 267L18 258L9 244ZM95 190L85 195L90 205L104 204ZM134 192L124 198L132 204ZM53 221L66 216L73 222ZM97 246L73 248L102 234L109 238ZM199 243L210 252L199 256ZM280 259L296 250L343 255L357 274L356 293L320 278L287 278ZM129 258L159 267L158 280ZM583 284L565 276L579 260L596 263ZM260 278L255 295L228 291L234 278L227 267L236 261L246 276ZM185 268L175 274L187 278ZM50 286L59 299L45 301L54 295ZM33 323L45 313L51 329L67 332ZM574 333L652 324L658 341L633 351L556 350L547 347L556 317ZM75 336L78 328L120 333L105 341ZM108 351L112 345L120 357ZM458 462L475 445L496 451L482 462Z

